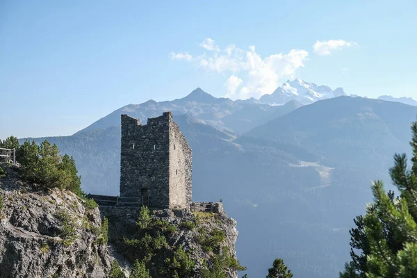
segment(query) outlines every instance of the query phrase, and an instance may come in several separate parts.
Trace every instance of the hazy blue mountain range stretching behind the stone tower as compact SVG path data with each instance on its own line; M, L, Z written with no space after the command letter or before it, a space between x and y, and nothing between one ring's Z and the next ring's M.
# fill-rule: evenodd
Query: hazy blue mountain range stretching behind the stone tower
M35 141L74 156L87 193L117 195L120 114L145 123L172 111L193 149L193 199L223 199L238 221L238 257L248 276L262 277L281 257L296 277L337 277L349 260L352 219L372 201L370 180L389 187L394 152L410 150L417 106L308 86L333 97L276 106L197 88L173 101L126 105L73 136ZM315 94L299 89L299 96Z

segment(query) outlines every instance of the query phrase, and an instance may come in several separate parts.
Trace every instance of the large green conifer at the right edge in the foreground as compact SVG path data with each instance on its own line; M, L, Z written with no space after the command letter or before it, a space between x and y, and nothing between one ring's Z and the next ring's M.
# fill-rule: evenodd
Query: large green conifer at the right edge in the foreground
M400 195L394 198L393 193L386 193L382 181L372 184L375 202L354 221L352 261L345 265L341 278L417 277L417 122L411 129L411 169L405 154L395 154L390 169Z

